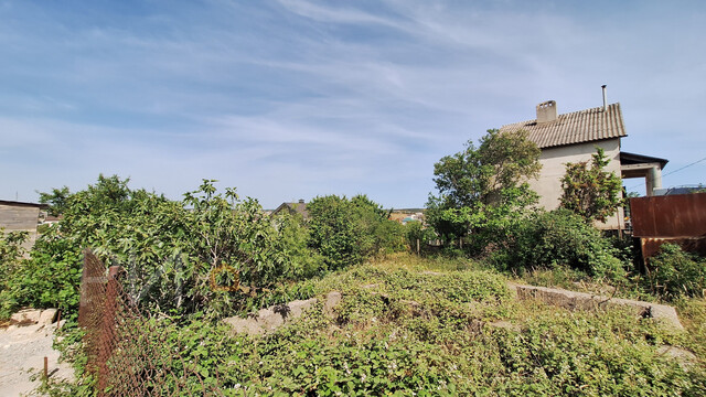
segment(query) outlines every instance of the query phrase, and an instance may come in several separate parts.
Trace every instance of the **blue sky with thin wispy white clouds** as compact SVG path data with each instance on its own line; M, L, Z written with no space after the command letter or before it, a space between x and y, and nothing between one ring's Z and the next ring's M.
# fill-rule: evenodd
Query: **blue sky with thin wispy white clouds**
M0 200L103 173L421 207L439 159L603 84L622 150L706 183L704 37L703 1L0 0Z

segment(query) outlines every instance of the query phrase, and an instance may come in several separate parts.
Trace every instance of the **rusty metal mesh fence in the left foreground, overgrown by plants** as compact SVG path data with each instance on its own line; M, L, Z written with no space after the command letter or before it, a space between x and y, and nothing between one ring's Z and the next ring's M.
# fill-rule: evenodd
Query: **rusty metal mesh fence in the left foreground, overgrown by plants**
M90 250L84 251L78 324L98 396L223 395L217 379L204 383L195 364L167 343L158 320L140 313L119 282L121 271L118 266L106 269Z

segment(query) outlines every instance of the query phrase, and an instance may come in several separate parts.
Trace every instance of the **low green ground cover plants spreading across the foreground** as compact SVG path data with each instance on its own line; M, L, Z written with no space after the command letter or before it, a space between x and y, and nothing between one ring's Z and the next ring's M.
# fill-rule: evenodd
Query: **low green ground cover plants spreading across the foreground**
M162 319L170 336L161 360L176 362L179 352L178 363L199 374L194 384L226 396L706 393L703 350L687 365L661 353L688 347L684 333L629 311L515 301L503 276L468 260L398 255L302 282L310 296L340 291L333 313L314 304L259 336L205 318Z

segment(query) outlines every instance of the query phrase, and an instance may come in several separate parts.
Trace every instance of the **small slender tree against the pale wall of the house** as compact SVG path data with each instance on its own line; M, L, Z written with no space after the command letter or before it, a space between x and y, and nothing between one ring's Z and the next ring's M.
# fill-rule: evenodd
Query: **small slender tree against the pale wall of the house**
M602 148L596 147L591 164L588 161L566 164L561 179L561 206L580 215L586 222L600 221L613 215L622 205L621 181L614 172L603 169L610 159Z

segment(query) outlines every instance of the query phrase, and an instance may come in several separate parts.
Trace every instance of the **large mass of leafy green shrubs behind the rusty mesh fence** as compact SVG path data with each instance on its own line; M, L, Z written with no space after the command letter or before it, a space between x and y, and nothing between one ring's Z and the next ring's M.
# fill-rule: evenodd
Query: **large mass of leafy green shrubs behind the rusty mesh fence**
M240 200L234 189L221 194L213 182L204 180L182 202L131 190L118 176L100 175L73 194L55 191L63 221L38 238L31 260L3 272L12 278L3 307L58 305L75 313L85 247L106 265L121 265L130 296L162 313L236 312L266 289L320 271L303 228L275 227L257 201Z

